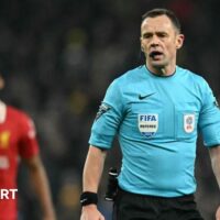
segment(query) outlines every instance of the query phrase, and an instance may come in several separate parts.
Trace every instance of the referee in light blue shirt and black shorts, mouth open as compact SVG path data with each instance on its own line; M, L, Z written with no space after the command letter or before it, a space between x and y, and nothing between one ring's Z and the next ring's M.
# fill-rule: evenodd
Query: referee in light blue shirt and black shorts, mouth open
M97 113L84 168L80 220L105 219L97 209L97 191L116 135L122 151L117 220L204 219L194 198L196 142L200 132L220 186L220 110L207 81L176 65L183 43L172 11L154 9L143 15L145 65L117 78Z

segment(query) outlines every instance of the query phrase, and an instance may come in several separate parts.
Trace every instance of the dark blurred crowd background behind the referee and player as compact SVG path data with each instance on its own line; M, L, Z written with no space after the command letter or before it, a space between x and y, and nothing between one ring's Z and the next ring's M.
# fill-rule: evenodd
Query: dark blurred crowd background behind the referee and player
M220 9L217 0L1 0L0 70L7 77L1 99L34 120L59 220L79 219L81 172L90 125L106 88L125 70L143 64L141 15L153 8L176 12L186 35L178 64L204 76L220 98ZM206 220L213 219L220 193L208 151L198 144L197 200ZM106 164L120 166L118 143ZM40 220L35 196L19 177L20 220Z

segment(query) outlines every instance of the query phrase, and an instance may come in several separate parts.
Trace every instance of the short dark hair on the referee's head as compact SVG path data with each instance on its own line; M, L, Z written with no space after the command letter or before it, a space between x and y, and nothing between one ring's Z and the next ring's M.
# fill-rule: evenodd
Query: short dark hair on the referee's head
M146 18L155 18L155 16L160 16L160 15L166 15L166 16L168 16L168 19L172 21L172 23L174 24L174 26L180 33L180 31L182 31L180 22L177 19L176 14L173 11L168 10L168 9L153 9L151 11L147 11L146 13L144 13L142 15L142 22Z

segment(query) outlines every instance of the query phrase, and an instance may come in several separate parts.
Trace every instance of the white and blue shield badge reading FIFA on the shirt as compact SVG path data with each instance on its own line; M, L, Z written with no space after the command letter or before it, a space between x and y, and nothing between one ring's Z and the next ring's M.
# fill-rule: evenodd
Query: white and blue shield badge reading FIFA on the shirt
M139 131L146 138L153 136L158 130L158 114L139 114Z

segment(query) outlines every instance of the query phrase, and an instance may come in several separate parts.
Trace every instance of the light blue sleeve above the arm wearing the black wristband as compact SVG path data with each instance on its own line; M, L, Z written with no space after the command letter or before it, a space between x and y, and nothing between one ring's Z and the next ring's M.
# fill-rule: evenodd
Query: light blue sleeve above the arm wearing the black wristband
M123 117L122 92L118 81L107 89L106 96L91 128L89 144L110 148Z

